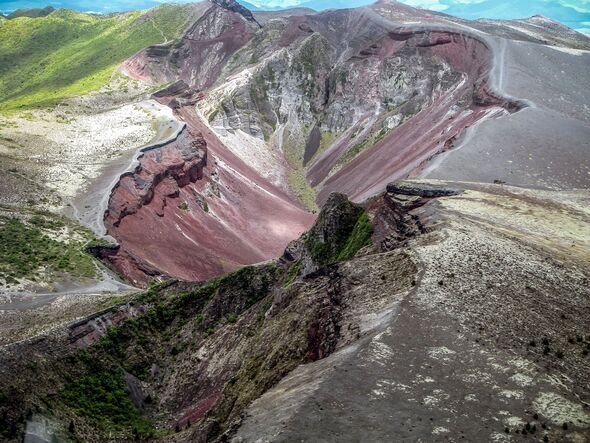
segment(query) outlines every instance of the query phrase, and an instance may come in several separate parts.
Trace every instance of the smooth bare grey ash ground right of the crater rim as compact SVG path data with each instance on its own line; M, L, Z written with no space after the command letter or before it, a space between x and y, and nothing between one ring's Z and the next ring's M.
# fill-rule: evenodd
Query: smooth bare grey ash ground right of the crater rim
M530 107L468 130L423 176L548 189L590 187L590 53L506 40L498 44L505 48L499 86Z

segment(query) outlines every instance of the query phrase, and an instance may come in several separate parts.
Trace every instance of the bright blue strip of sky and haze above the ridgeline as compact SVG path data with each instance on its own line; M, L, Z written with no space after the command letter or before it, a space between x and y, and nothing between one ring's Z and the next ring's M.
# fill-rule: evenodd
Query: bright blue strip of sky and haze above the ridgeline
M107 14L129 9L147 9L169 0L0 0L0 12L8 14L18 8L70 8ZM193 0L180 0L183 3ZM240 0L259 9L282 9L305 6L321 10L330 7L355 7L373 0ZM590 35L590 0L400 0L402 3L458 17L523 18L541 14Z

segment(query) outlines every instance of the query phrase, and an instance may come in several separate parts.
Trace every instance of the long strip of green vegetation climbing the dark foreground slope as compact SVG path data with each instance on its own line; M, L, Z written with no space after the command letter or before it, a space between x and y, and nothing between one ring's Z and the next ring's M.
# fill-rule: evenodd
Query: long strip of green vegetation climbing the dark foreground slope
M94 346L71 356L68 371L77 375L66 379L58 400L96 426L103 437L113 433L110 439L149 439L153 427L130 402L123 374L150 381L154 361L174 358L195 346L194 335L190 341L182 339L187 324L206 339L217 328L236 323L244 310L269 295L282 272L274 264L247 266L185 293L173 293L174 282L152 285L135 300L147 308L145 313L109 328ZM231 302L225 311L205 309L215 297Z

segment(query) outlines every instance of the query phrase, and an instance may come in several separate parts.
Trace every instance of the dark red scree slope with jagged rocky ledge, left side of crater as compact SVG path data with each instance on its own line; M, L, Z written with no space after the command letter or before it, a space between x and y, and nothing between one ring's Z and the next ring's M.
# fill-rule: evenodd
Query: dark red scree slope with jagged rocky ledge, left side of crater
M102 256L131 282L205 280L275 257L313 221L223 146L188 109L177 140L150 150L112 192L105 215L118 251Z

